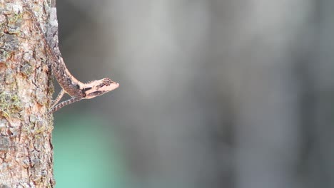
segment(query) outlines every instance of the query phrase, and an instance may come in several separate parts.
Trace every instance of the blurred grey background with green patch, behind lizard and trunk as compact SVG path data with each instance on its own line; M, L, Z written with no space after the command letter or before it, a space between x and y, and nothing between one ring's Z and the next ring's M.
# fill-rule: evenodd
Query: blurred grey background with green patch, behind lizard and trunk
M120 83L54 114L57 187L334 187L334 1L57 6L73 75Z

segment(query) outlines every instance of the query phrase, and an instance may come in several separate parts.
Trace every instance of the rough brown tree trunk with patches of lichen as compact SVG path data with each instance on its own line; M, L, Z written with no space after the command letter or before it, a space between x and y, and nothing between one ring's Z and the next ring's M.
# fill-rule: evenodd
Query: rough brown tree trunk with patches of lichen
M53 85L41 31L49 5L0 0L0 187L54 187Z

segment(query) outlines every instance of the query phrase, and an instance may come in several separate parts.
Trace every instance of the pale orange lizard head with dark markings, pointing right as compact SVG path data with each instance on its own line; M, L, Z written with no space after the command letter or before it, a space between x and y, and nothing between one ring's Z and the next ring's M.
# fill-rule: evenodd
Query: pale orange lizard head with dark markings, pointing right
M83 98L95 98L99 95L103 95L104 93L108 93L111 90L118 88L119 84L114 82L109 78L103 78L101 80L93 80L84 85Z

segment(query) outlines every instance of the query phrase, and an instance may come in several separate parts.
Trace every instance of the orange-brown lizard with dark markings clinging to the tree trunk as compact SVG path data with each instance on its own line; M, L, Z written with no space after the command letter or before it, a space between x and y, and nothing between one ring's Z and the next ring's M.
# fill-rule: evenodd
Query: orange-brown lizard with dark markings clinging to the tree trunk
M82 99L95 98L118 88L119 84L114 82L110 78L103 78L101 80L92 80L88 83L82 83L69 72L68 68L66 68L66 64L61 56L61 52L58 47L58 21L56 17L55 0L51 0L49 27L46 31L46 36L41 30L39 21L37 21L34 13L29 8L28 11L30 12L31 17L34 20L37 28L41 32L41 41L44 43L44 48L46 51L46 55L49 58L49 65L51 66L51 71L57 82L61 86L61 91L59 92L53 103L51 103L51 110L49 111L49 113L54 113L57 110L63 108L65 105L75 103ZM63 102L59 103L65 93L70 95L71 98L69 100L64 100Z

